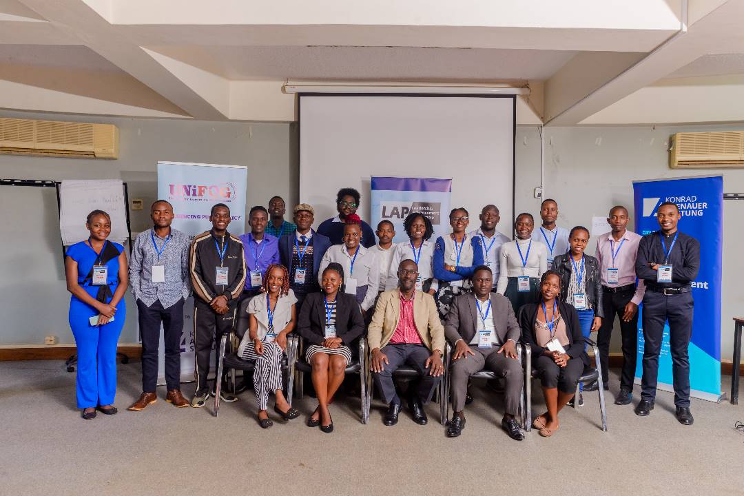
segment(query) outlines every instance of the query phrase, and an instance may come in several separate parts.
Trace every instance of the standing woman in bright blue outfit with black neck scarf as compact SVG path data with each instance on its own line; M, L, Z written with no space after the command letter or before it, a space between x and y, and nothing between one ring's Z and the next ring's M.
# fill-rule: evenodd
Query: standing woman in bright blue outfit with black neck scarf
M70 327L77 346L77 408L83 419L96 410L114 415L116 349L126 319L124 293L129 284L124 246L110 242L111 217L93 210L86 219L90 237L65 256Z

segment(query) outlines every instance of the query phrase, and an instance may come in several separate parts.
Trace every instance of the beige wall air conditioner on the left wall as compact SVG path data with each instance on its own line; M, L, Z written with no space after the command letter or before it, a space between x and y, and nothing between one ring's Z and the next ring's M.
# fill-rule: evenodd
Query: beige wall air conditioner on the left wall
M119 158L119 129L113 124L0 118L0 153Z

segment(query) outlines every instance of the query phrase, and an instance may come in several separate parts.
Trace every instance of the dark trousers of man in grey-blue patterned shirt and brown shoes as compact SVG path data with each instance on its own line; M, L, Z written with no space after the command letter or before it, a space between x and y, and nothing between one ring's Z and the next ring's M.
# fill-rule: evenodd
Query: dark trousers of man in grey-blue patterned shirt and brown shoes
M160 300L146 306L137 300L142 337L142 391L155 393L158 384L158 346L160 325L165 344L165 384L168 390L181 389L181 334L184 328L184 300L163 308Z

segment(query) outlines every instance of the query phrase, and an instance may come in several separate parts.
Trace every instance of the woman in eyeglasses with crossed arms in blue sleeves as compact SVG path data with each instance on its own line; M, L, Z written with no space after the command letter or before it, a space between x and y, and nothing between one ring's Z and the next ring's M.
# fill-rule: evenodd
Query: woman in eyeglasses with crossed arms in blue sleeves
M449 313L455 296L469 291L475 267L483 265L481 238L471 238L465 233L469 223L469 214L464 207L452 209L449 213L452 233L439 236L434 244L432 265L434 277L439 281L436 299L441 318Z

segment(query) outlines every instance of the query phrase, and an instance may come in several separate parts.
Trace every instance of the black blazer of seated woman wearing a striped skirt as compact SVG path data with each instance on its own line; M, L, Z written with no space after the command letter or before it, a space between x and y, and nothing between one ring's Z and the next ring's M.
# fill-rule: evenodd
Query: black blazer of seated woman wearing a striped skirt
M310 344L323 344L325 341L325 303L324 293L307 295L297 323L297 332ZM336 294L336 336L341 344L349 346L365 332L362 308L356 303L353 294Z

